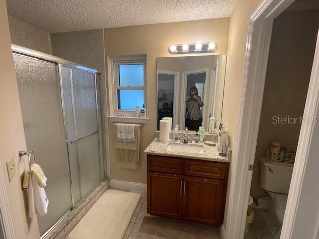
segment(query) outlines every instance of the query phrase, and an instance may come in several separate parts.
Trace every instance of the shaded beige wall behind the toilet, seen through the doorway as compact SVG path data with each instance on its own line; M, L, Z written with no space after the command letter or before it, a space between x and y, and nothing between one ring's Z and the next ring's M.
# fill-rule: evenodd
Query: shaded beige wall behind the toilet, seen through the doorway
M281 142L288 150L297 148L301 121L274 124L272 118L303 116L318 27L319 10L288 11L274 20L250 191L253 197L264 195L258 158L266 156L271 142Z

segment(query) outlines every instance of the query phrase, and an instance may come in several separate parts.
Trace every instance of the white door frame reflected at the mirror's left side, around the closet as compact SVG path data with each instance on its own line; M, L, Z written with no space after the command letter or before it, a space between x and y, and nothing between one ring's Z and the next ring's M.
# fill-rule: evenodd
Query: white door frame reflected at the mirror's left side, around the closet
M173 103L173 120L172 120L172 127L174 128L177 124L177 116L178 116L178 93L179 93L179 72L178 71L162 71L158 70L156 73L156 82L157 82L157 91L156 91L156 100L159 99L159 74L164 75L174 75L174 103ZM158 104L156 104L156 122L158 122ZM157 126L156 126L157 127Z

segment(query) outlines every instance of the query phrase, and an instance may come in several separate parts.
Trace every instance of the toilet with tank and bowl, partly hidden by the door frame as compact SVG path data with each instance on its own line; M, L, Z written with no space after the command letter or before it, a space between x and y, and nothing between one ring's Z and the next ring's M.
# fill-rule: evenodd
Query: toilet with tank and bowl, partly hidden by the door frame
M294 165L275 164L266 157L260 157L259 161L260 186L268 192L271 198L269 212L274 214L280 224L275 233L275 238L279 238Z

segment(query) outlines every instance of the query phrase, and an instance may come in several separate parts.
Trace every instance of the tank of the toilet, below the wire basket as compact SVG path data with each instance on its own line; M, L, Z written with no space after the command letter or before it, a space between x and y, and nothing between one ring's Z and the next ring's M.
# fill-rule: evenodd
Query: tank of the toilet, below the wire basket
M260 186L267 191L288 194L294 165L272 163L260 157Z

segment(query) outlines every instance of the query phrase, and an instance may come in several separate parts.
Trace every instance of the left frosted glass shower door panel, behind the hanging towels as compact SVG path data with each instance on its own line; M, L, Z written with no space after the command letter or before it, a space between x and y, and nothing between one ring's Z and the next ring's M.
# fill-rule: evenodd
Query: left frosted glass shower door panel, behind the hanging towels
M38 220L42 234L72 208L58 67L17 54L13 60L27 149L48 179L48 213Z

